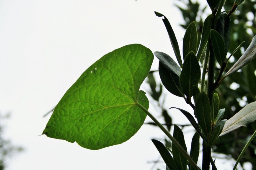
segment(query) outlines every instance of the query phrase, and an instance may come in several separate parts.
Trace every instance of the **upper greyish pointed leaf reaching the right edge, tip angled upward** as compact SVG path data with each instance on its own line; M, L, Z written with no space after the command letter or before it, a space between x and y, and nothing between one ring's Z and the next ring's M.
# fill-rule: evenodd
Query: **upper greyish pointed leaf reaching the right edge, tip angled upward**
M255 59L255 57L256 57L256 35L254 36L249 47L245 50L244 54L233 65L233 67L229 69L229 71L226 73L224 77L238 71L240 68L249 64L253 59Z

